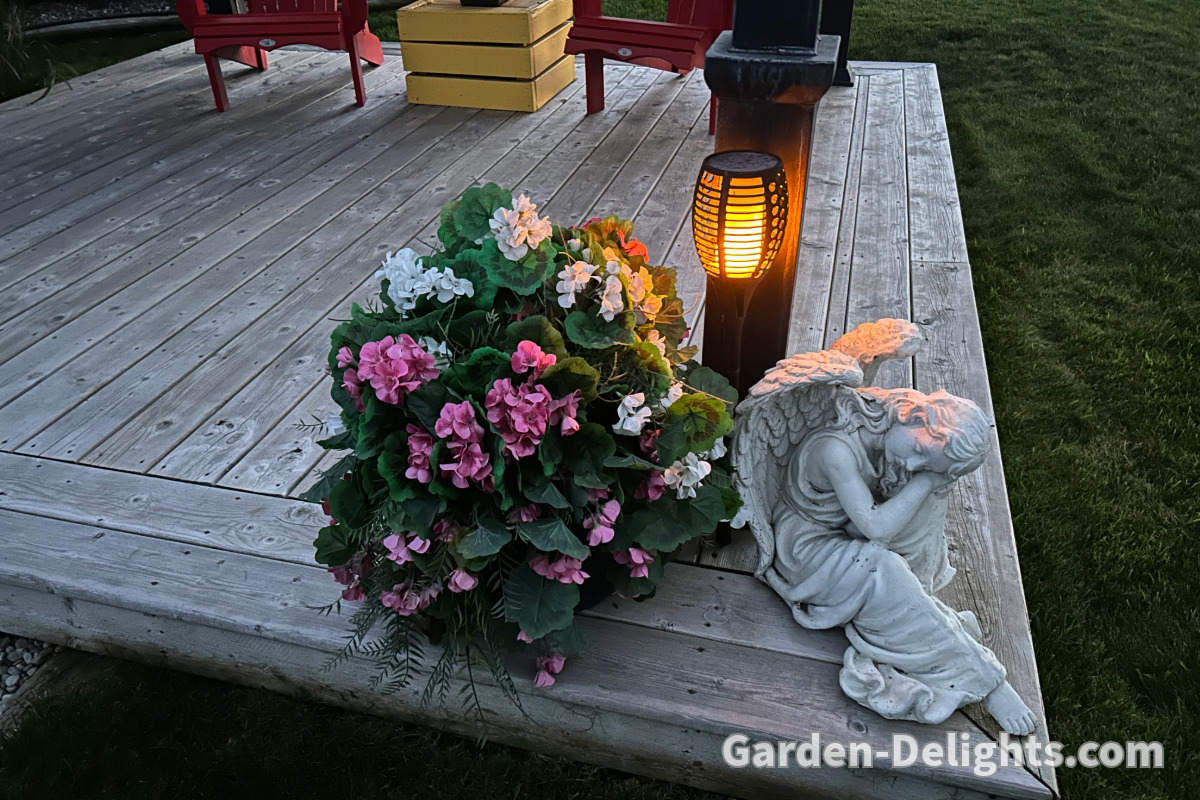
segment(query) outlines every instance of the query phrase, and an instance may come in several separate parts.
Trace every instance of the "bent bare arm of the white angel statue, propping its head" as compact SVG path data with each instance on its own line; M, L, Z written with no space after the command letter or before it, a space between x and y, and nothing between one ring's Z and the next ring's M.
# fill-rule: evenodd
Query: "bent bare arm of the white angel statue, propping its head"
M850 447L836 439L827 439L818 447L816 463L846 510L846 516L863 536L881 545L887 545L904 530L930 492L941 486L935 474L916 473L894 498L876 503L870 487L858 474L858 463Z

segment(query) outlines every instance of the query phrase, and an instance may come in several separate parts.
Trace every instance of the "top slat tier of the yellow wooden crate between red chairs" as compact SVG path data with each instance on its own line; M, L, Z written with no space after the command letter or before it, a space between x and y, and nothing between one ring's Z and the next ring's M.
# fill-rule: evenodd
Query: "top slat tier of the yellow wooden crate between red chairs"
M396 12L401 42L533 44L570 18L571 0L508 0L496 8L416 0Z

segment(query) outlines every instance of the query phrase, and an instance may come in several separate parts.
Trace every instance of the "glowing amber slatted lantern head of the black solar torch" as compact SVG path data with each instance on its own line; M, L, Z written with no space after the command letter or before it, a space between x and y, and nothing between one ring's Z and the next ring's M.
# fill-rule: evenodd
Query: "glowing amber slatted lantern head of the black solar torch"
M714 278L762 277L784 242L787 178L766 152L730 150L704 160L696 180L691 233Z

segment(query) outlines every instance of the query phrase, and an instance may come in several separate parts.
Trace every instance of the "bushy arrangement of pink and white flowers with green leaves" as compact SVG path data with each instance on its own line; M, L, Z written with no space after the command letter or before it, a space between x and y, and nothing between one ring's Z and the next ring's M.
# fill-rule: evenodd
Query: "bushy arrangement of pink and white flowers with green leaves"
M486 667L518 702L505 650L533 648L553 684L583 646L581 597L652 596L738 511L737 393L682 347L674 270L631 223L558 228L488 184L442 210L438 239L389 254L378 307L334 331L341 414L320 444L350 452L306 499L330 516L317 560L360 603L343 655L404 686L432 640L426 699Z

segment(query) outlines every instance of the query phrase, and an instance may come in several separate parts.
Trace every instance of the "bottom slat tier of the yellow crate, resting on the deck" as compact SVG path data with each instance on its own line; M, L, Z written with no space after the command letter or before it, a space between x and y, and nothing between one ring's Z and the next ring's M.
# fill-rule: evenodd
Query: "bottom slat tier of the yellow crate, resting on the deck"
M496 108L505 112L536 112L551 97L575 80L575 58L562 56L533 80L467 78L412 73L408 102L428 106Z

